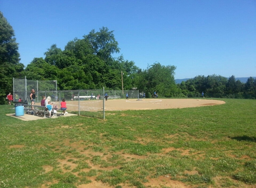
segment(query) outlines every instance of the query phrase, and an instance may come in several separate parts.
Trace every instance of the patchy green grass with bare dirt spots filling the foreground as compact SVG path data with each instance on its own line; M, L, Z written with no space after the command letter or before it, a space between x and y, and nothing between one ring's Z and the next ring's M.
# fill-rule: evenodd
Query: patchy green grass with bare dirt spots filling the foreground
M30 122L2 105L0 188L255 188L256 100L221 100Z

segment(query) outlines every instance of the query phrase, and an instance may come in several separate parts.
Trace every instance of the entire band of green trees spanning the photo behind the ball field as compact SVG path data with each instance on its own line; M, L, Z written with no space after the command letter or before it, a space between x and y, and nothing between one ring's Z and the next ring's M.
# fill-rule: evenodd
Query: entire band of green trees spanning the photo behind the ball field
M167 98L199 97L202 91L207 97L256 98L256 79L249 78L243 84L235 81L235 76L211 75L176 84L176 66L155 62L140 69L123 55L113 57L119 52L113 31L102 27L68 41L63 50L51 45L44 58L34 57L25 67L20 63L14 30L0 12L0 104L6 103L6 95L12 92L13 78L25 76L29 80L57 80L58 90L122 90L123 82L124 90L137 88L147 98L155 91Z

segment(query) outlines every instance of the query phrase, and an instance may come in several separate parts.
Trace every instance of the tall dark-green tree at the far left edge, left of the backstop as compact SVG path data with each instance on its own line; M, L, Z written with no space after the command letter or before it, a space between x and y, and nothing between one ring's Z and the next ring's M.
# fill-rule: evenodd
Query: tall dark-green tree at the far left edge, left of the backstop
M0 12L0 104L6 102L6 95L13 90L13 76L24 69L20 63L18 43L14 30Z

